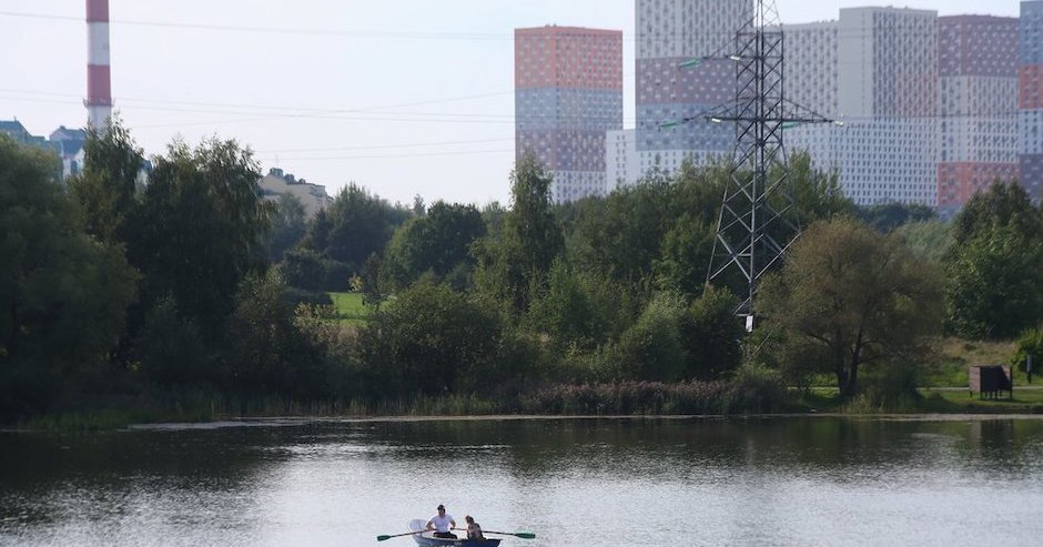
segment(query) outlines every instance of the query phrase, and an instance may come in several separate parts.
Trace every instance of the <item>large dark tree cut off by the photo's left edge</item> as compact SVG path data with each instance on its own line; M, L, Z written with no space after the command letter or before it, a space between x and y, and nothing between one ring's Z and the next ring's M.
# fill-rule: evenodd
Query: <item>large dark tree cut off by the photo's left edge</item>
M84 233L55 165L0 135L0 415L45 407L104 364L134 297L122 247Z

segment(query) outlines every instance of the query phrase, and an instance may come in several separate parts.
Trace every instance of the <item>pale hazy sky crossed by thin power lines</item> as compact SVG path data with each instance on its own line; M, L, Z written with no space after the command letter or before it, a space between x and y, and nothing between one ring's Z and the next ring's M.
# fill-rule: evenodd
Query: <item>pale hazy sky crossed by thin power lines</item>
M110 0L112 95L148 154L234 138L262 170L414 196L509 203L515 28L624 31L634 126L634 0ZM1016 17L1016 0L911 0ZM883 2L777 0L784 23ZM0 120L82 126L84 0L0 1Z

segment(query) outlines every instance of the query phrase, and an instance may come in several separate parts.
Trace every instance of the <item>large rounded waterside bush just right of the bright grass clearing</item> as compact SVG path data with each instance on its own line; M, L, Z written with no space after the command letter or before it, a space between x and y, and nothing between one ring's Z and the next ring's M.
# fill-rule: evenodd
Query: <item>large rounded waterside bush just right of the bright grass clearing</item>
M506 379L499 315L446 285L418 283L373 316L358 358L373 396L468 393Z

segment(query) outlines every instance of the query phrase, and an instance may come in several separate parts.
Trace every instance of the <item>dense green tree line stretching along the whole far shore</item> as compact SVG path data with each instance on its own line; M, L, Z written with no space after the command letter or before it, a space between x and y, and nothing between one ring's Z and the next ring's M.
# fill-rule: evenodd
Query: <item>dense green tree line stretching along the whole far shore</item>
M804 231L747 335L733 280L706 283L723 164L556 205L550 174L526 158L506 207L404 206L352 183L308 220L296 200L261 197L235 141L175 141L146 176L119 124L85 154L65 184L53 158L0 139L8 418L200 393L524 408L574 393L563 385L632 382L761 401L819 373L853 397L865 374L914 387L929 336L1029 331L1029 348L1043 320L1043 219L1013 183L946 224L917 206L855 207L798 154L796 203L780 209ZM348 290L373 310L361 326L327 305L326 291Z

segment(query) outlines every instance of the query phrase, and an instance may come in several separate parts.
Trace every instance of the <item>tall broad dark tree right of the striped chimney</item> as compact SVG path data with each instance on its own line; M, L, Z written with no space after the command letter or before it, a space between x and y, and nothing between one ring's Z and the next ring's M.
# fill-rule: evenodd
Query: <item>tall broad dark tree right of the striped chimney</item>
M144 274L146 307L171 295L205 335L224 331L240 281L262 265L271 205L260 178L235 141L174 142L155 159L128 250Z

